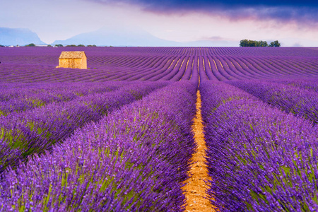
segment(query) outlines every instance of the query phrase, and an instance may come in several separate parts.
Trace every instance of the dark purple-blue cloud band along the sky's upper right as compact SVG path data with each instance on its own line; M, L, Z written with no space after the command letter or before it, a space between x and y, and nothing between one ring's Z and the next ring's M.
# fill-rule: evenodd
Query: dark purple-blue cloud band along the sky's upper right
M143 10L154 13L184 13L199 11L229 18L270 18L295 20L298 22L318 22L318 1L303 0L87 0L101 3L126 3L138 5Z

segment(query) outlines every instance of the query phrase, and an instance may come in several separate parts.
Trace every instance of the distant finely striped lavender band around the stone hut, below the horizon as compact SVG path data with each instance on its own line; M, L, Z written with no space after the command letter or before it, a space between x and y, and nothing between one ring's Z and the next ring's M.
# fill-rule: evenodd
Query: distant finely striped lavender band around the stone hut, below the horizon
M2 82L28 82L37 81L63 81L63 82L100 82L100 81L178 81L179 77L189 80L192 72L199 68L202 80L206 77L218 81L241 79L272 79L272 78L300 78L317 77L317 51L309 48L300 49L251 49L251 48L163 48L157 52L156 48L110 49L110 48L84 48L88 55L88 70L55 69L60 52L58 49L24 49L30 54L20 54L23 49L16 49L16 54L8 54L1 63ZM72 49L74 50L74 49ZM257 50L257 54L255 54ZM11 51L11 50L10 50ZM37 52L38 51L38 52ZM60 51L60 50L59 50ZM148 52L147 52L148 51ZM275 53L278 57L273 57ZM161 52L161 53L160 53ZM163 54L163 52L170 52ZM216 54L216 53L219 54ZM234 53L236 52L236 53ZM244 52L238 54L238 52ZM261 52L263 52L261 54ZM269 55L269 52L273 55ZM312 52L308 57L302 52ZM7 53L7 52L6 52ZM233 54L232 54L233 53ZM316 53L316 54L314 54ZM3 53L2 53L3 54ZM33 55L34 54L34 55ZM289 56L288 56L289 55ZM55 63L54 61L55 57ZM191 66L179 66L188 64ZM49 60L48 60L49 59ZM199 63L193 66L194 61ZM23 60L25 61L23 63ZM179 63L177 61L179 60ZM174 69L175 67L175 69ZM205 73L204 73L205 72Z

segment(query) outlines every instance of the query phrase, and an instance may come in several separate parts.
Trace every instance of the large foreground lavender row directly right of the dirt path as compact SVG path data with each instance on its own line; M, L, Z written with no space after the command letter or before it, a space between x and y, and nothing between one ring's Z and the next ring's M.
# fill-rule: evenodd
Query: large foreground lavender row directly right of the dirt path
M200 90L211 204L317 211L317 127L224 83L204 82Z

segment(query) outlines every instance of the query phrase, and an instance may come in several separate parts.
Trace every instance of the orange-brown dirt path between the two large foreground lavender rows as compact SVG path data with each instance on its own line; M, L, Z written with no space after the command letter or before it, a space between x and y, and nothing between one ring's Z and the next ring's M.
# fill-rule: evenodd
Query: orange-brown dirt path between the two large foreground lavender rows
M185 211L214 211L210 201L205 199L206 183L204 180L211 179L208 176L208 168L206 167L205 150L206 142L204 140L203 124L201 117L201 95L200 91L196 93L196 117L194 118L194 140L198 148L196 153L192 155L192 161L196 162L192 165L189 175L192 175L185 183L183 190L187 199L187 206Z

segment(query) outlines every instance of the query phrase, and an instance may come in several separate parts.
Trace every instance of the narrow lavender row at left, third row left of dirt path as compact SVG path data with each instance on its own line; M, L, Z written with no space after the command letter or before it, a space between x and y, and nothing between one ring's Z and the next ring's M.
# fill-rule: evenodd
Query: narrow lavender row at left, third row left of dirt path
M77 84L77 85L76 85ZM121 83L95 83L78 85L61 85L52 83L49 86L37 86L37 88L14 88L3 92L6 101L0 102L0 115L7 115L11 112L32 110L35 107L42 107L52 102L67 102L80 96L91 93L104 93L117 89ZM47 88L49 87L49 88ZM1 95L1 94L0 94Z

